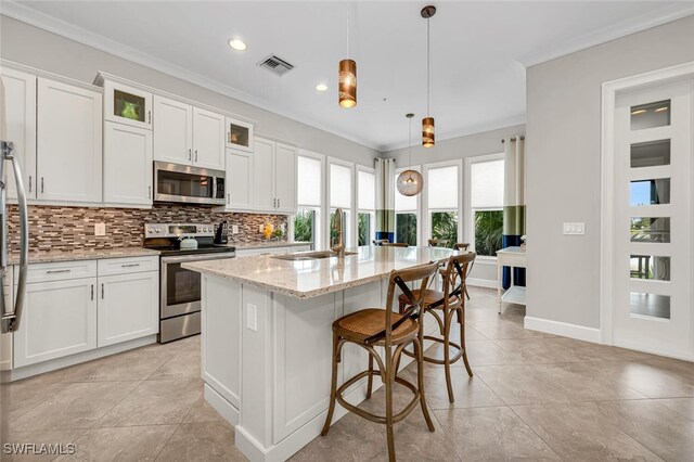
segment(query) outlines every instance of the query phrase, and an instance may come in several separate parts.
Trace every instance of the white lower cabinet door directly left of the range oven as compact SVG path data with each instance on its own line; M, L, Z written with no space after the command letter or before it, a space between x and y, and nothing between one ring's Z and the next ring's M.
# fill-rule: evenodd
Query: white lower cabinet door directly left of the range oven
M156 334L158 307L158 271L99 278L98 346Z

